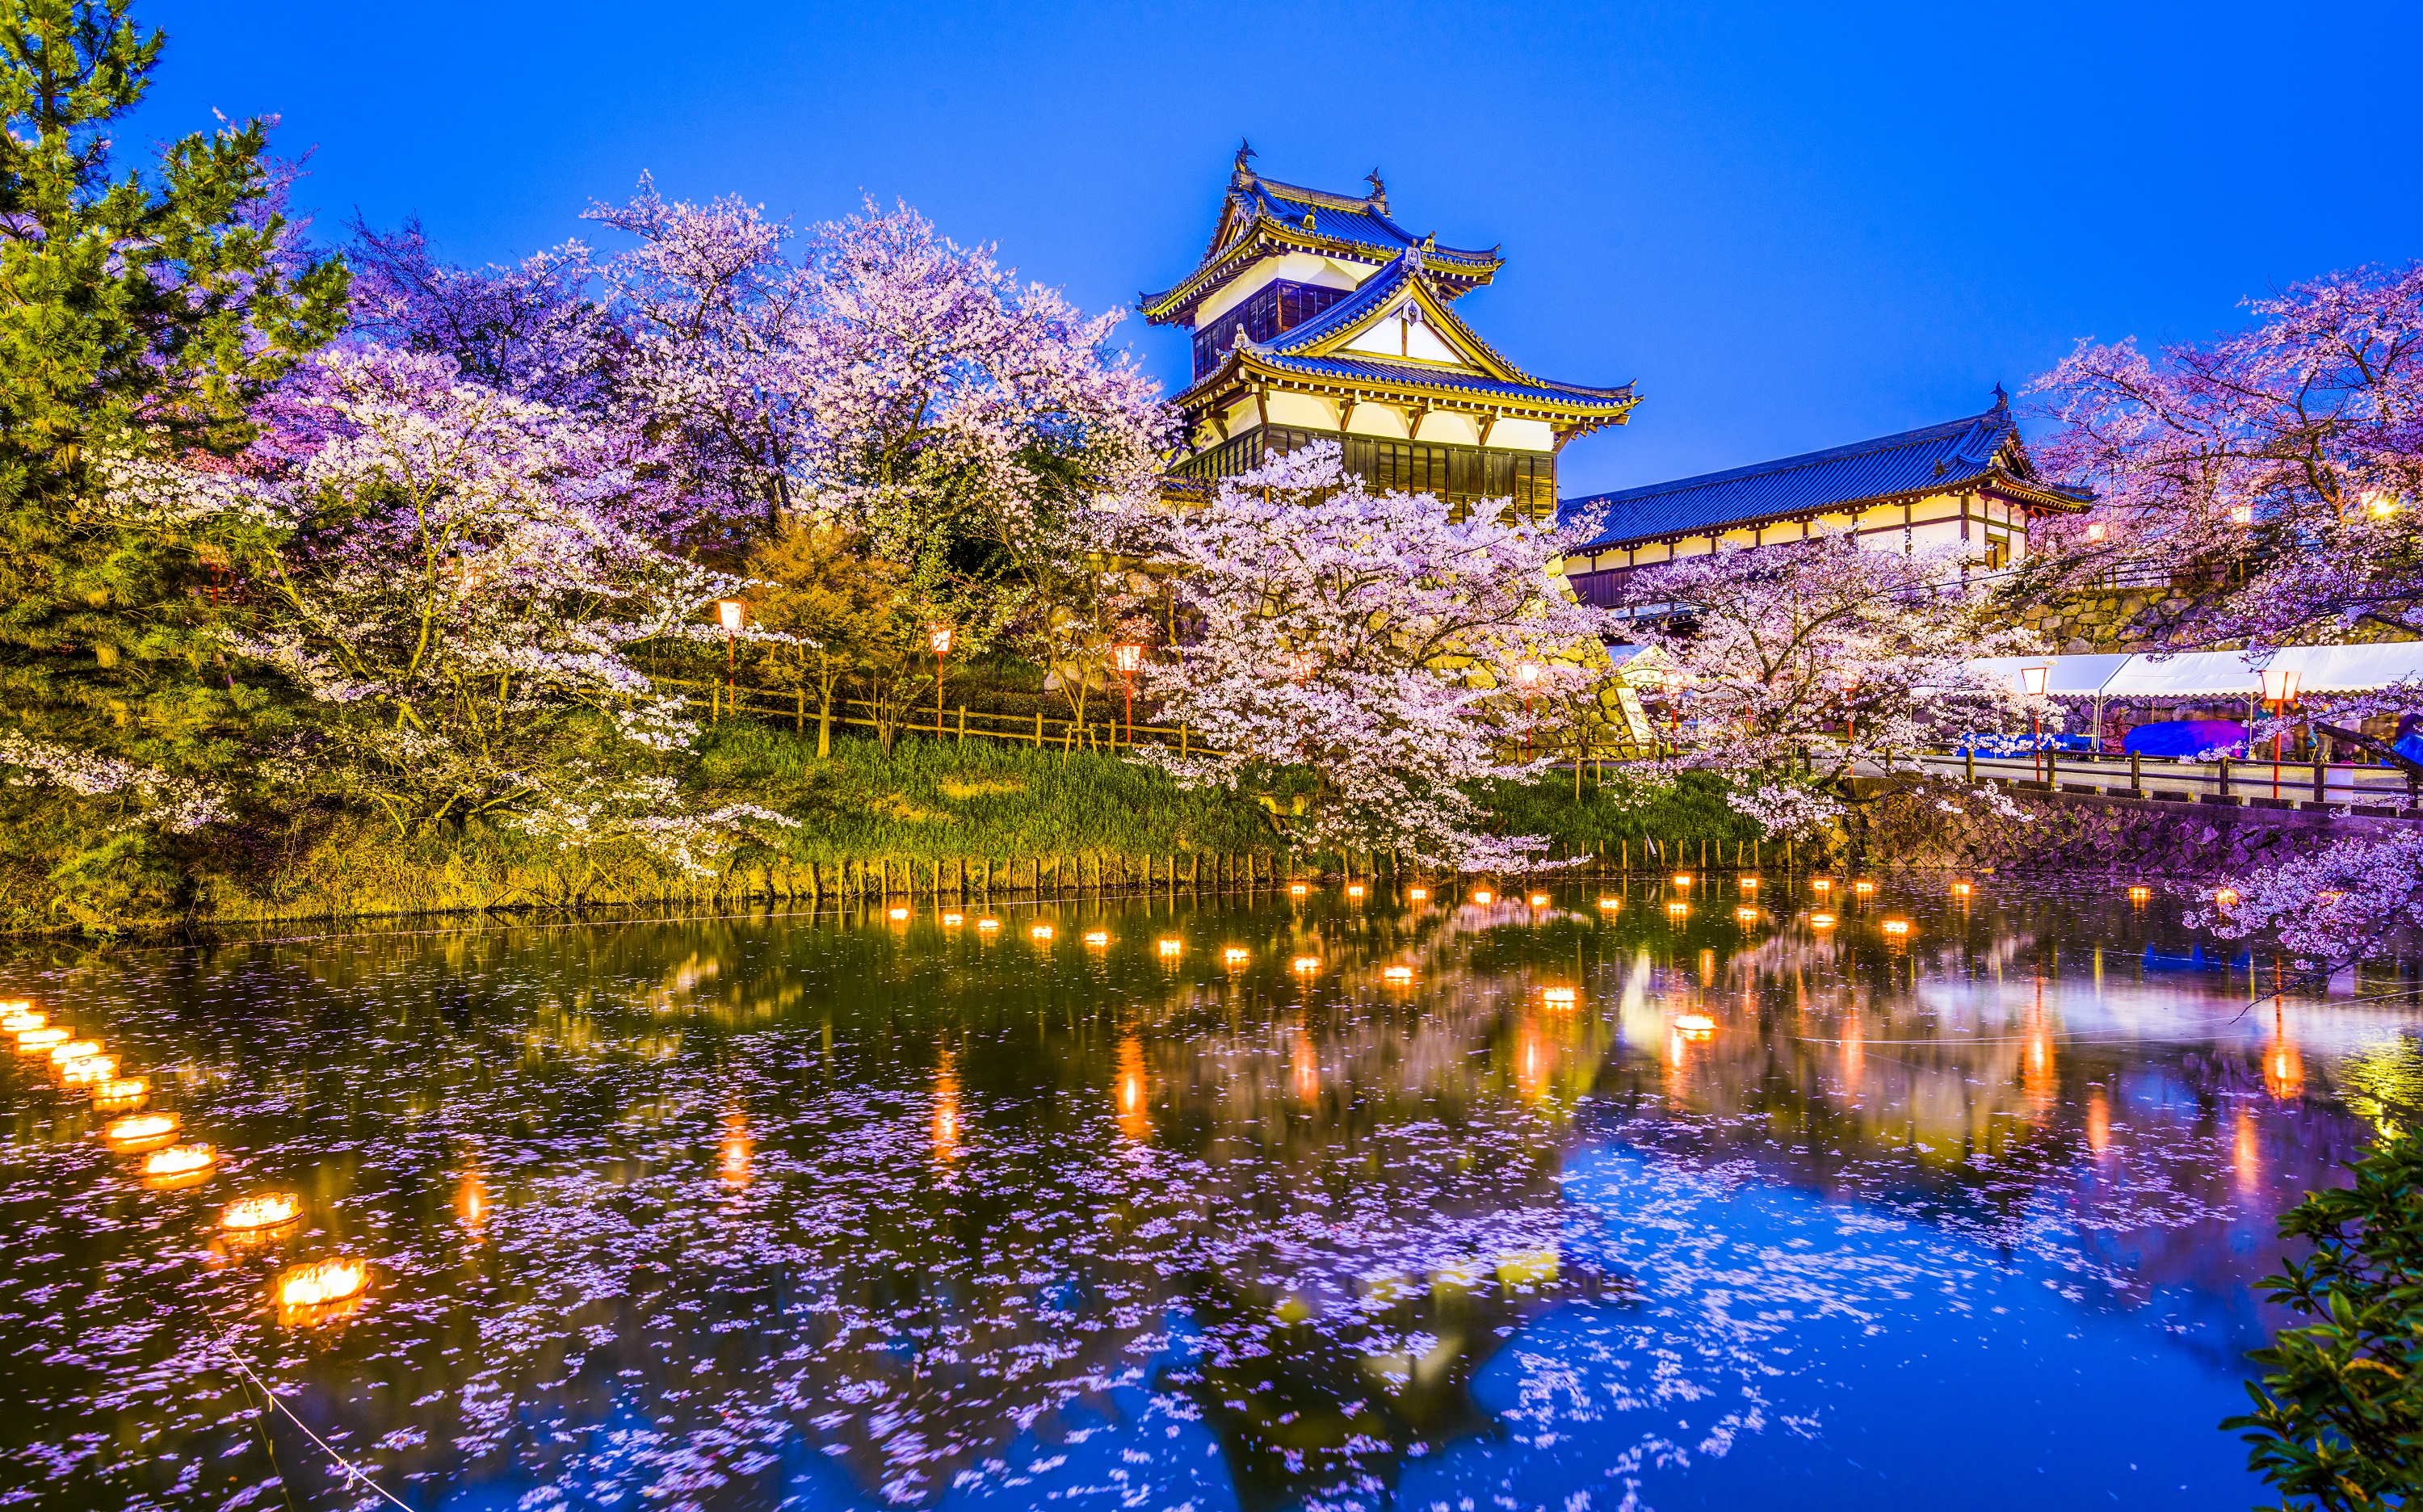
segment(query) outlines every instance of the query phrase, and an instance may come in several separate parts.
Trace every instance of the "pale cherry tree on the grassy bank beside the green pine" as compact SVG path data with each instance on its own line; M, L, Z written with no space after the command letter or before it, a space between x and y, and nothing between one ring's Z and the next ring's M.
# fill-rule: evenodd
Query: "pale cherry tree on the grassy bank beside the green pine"
M264 601L225 645L317 710L283 761L298 785L400 836L492 819L681 867L787 824L625 792L695 734L632 649L710 635L705 606L737 586L632 528L657 470L625 431L383 346L325 354L276 417L247 468L119 460L111 497L242 543Z

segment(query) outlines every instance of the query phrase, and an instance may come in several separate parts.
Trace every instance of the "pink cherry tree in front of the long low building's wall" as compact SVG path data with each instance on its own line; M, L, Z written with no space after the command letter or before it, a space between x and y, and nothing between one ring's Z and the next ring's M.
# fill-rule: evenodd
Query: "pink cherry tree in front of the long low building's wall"
M1970 662L2035 652L2035 635L1997 628L1960 565L1958 550L1863 550L1834 533L1636 572L1626 603L1686 606L1631 632L1669 669L1669 754L1638 775L1720 773L1728 802L1778 838L1839 824L1854 775L1897 778L1953 809L2021 814L1997 790L1946 783L1917 761L2023 727L2030 708Z

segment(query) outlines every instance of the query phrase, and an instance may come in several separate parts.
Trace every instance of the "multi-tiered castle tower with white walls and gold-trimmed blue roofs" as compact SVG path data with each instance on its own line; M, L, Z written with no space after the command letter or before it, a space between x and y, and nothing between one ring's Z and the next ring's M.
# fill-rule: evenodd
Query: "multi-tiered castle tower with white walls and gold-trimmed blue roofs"
M1202 264L1139 300L1149 322L1195 332L1178 480L1337 441L1371 487L1512 497L1546 519L1556 453L1623 424L1633 388L1534 378L1476 337L1454 303L1505 259L1400 228L1376 170L1357 196L1265 179L1250 160L1241 148Z

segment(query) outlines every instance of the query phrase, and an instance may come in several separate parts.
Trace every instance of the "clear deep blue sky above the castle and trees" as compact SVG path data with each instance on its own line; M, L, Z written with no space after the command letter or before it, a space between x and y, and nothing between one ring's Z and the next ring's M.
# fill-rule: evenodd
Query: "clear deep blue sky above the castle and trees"
M460 262L586 228L642 170L797 223L860 191L1086 308L1175 284L1238 136L1449 245L1517 363L1638 380L1568 494L1982 409L2077 337L2423 254L2423 7L514 5L138 0L126 136L279 111L305 208ZM1175 332L1124 327L1182 380Z

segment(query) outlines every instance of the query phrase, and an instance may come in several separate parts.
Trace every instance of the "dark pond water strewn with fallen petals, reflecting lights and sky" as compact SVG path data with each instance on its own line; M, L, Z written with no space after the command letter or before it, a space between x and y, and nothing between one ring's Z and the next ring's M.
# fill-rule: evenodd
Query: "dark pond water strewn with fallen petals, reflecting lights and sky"
M22 955L220 1163L0 1069L0 1502L2253 1502L2249 1282L2416 1095L2394 981L1706 892ZM271 1306L327 1255L359 1304Z

